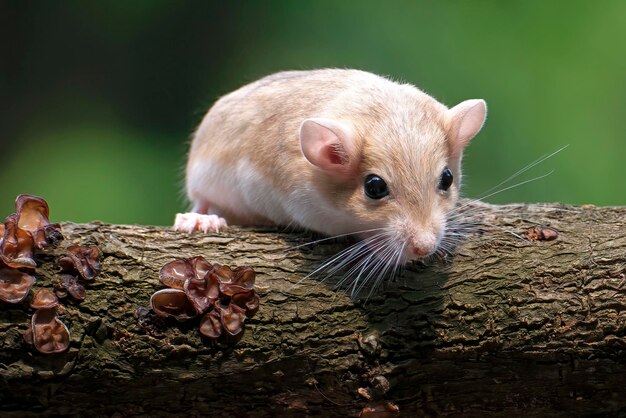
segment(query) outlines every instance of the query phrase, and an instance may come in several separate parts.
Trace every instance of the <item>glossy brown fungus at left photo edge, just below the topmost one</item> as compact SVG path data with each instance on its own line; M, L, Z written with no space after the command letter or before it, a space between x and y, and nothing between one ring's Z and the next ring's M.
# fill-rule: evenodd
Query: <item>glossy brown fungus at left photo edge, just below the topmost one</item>
M4 220L4 234L0 239L0 260L12 268L35 268L33 237L18 227L17 214Z

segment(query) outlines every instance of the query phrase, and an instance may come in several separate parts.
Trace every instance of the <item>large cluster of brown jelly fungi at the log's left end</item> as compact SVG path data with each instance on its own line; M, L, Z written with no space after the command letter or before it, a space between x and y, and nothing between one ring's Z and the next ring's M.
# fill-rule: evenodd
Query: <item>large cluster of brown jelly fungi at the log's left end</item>
M36 281L31 274L37 267L35 252L63 239L60 225L50 223L48 203L44 199L22 194L17 197L15 207L15 213L0 225L0 301L13 304L26 299ZM35 313L24 339L39 352L52 354L68 349L69 329L57 317L59 297L69 294L75 300L83 300L85 289L77 276L93 280L100 268L99 257L96 246L68 247L58 260L62 272L60 285L55 286L55 292L41 288L33 296L30 306Z

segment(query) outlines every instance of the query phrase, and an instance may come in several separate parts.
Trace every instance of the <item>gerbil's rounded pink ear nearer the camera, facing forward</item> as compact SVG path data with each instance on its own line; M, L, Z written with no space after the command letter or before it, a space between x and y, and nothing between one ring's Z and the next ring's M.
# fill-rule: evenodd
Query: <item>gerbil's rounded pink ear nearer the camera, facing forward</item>
M300 125L300 147L305 158L322 170L350 177L358 166L352 130L335 120L306 119Z

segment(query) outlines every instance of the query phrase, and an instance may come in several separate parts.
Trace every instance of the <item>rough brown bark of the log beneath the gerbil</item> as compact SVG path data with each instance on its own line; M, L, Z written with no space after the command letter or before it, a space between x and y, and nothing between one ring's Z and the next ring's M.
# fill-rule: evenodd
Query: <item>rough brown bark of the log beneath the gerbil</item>
M27 304L0 306L0 415L350 416L385 401L406 416L625 414L626 207L473 208L482 226L453 257L409 266L366 303L302 281L346 242L63 224L36 286L51 287L69 244L97 244L103 270L63 305L64 354L23 341ZM537 225L558 238L524 238ZM137 315L160 267L193 255L257 271L261 309L237 344Z

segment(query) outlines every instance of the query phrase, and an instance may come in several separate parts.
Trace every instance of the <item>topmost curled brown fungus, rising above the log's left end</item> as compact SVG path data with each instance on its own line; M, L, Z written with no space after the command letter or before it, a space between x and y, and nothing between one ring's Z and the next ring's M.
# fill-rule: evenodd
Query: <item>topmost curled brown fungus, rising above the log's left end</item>
M61 226L50 223L48 203L41 197L21 194L15 200L18 227L30 233L37 248L63 239Z

